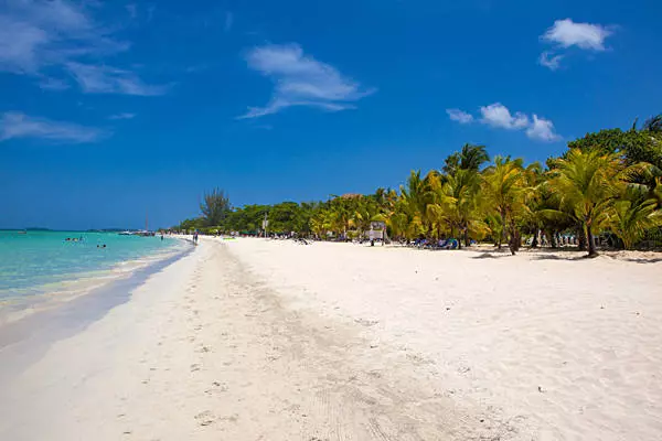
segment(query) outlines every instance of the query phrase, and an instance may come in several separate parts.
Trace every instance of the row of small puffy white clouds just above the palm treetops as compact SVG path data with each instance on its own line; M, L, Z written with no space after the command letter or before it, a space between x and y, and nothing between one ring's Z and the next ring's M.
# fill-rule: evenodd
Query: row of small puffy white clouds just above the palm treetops
M448 117L460 123L478 121L482 125L506 130L525 130L526 136L538 141L558 141L562 139L554 131L554 123L537 115L531 118L521 111L511 112L508 107L501 103L494 103L489 106L480 107L480 118L460 109L446 110Z

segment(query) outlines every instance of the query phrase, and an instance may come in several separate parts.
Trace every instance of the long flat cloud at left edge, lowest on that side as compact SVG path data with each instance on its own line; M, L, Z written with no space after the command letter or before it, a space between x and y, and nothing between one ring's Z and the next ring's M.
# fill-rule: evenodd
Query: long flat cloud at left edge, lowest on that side
M107 133L92 127L71 122L52 121L8 111L0 117L0 141L12 138L39 138L60 142L95 142Z

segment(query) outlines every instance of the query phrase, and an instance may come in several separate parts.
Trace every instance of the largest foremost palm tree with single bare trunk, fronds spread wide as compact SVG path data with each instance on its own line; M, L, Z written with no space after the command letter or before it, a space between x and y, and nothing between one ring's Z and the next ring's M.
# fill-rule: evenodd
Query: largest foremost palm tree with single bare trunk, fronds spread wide
M570 149L554 161L549 187L559 197L560 209L572 213L581 225L588 257L598 255L594 234L607 225L628 171L618 153L605 154L596 148Z

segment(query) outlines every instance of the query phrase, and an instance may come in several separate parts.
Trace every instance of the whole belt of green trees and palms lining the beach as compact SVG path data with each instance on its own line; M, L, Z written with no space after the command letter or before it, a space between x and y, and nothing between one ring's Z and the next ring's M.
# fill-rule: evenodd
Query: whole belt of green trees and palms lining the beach
M560 235L578 238L588 256L594 237L624 249L660 246L662 237L662 116L628 131L601 130L568 143L546 168L495 157L484 146L465 144L440 170L412 171L399 190L345 194L327 202L282 202L232 208L223 191L205 194L202 216L175 229L257 235L268 232L323 239L364 237L372 222L384 222L393 240L457 238L506 244L515 254L526 237L541 234L552 247Z

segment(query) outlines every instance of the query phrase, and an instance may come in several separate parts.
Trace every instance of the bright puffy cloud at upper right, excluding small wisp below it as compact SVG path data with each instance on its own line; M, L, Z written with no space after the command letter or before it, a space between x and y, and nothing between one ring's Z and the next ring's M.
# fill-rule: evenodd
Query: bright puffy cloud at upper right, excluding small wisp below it
M600 24L575 23L570 19L556 20L542 39L562 47L577 46L579 49L605 51L605 39L611 31Z

